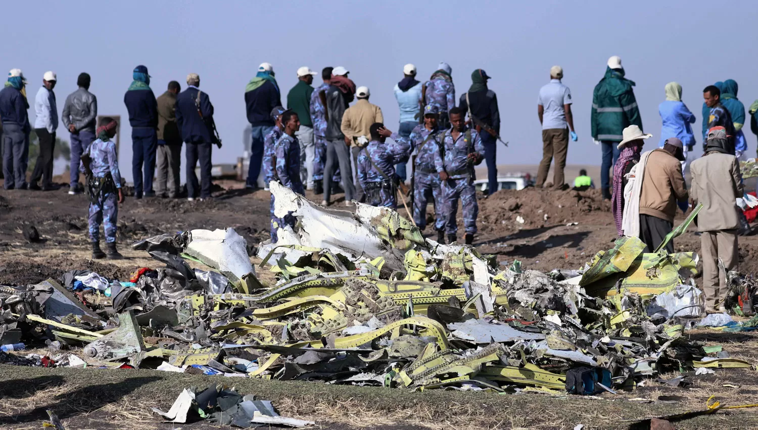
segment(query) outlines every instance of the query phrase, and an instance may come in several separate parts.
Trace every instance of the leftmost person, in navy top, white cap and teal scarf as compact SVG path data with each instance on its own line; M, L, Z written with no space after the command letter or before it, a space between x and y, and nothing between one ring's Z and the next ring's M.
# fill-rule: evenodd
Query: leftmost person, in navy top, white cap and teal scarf
M25 86L27 80L21 69L8 72L8 83L0 91L0 118L3 131L2 169L5 190L23 190L27 187L29 157L29 102Z

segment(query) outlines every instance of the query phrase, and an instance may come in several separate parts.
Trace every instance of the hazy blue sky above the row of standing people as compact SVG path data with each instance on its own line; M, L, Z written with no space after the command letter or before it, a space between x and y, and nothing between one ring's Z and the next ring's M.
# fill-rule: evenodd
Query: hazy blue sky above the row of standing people
M243 151L246 127L243 93L258 64L274 65L283 98L296 83L296 70L342 65L356 84L371 89L371 102L384 111L387 127L397 130L394 84L402 66L418 67L428 79L440 61L453 67L456 99L471 84L471 71L492 77L503 118L501 133L510 148L498 148L501 163L539 162L540 123L537 92L560 64L563 83L572 90L579 141L568 163L600 164L590 138L592 89L611 55L620 55L627 77L637 86L644 130L657 145L658 104L663 87L675 80L684 102L697 115L701 90L732 78L739 98L758 97L755 43L758 3L702 0L639 2L541 2L384 0L380 2L23 2L22 14L6 14L0 70L20 67L33 98L42 74L58 74L58 108L76 89L77 75L92 75L90 90L99 113L126 119L124 92L133 67L145 64L155 96L169 80L186 86L186 74L200 75L211 97L224 148L214 162L234 162ZM725 18L728 17L728 18ZM15 36L13 36L15 35ZM315 84L321 83L317 77ZM30 109L33 116L33 109ZM746 130L753 155L756 138ZM131 178L128 121L121 127L121 171ZM63 125L60 137L67 139ZM700 134L696 133L700 143ZM696 153L698 153L696 151ZM184 174L182 174L182 178Z

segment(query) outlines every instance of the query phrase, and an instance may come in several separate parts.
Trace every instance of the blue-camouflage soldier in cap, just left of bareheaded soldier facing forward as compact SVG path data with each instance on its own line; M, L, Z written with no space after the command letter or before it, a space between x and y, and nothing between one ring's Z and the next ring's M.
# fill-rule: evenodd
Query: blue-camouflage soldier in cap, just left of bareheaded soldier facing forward
M444 168L437 112L436 106L426 105L424 124L417 125L410 136L416 152L413 166L413 220L421 230L426 228L427 196L431 193L434 197L434 229L437 230L437 242L445 243L445 214L440 180L440 172L444 172Z

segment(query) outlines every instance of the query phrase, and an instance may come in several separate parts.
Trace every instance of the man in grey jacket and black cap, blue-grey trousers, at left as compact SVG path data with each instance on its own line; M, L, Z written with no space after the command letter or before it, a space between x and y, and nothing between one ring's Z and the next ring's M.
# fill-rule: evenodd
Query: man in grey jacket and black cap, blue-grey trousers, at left
M79 74L77 78L79 89L66 97L63 115L61 115L63 125L71 133L71 171L68 193L72 195L81 193L83 190L79 184L79 172L84 171L80 159L96 137L97 98L89 92L89 81L89 74Z

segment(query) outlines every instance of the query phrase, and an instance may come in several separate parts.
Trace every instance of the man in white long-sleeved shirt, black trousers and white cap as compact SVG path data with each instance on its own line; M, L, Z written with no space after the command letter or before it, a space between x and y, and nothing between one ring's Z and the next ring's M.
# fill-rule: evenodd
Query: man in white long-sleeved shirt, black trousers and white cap
M52 152L55 148L55 130L58 129L58 106L52 89L57 80L54 72L45 72L42 86L34 99L34 131L39 138L39 155L29 182L30 190L52 190ZM42 188L37 184L40 178Z

